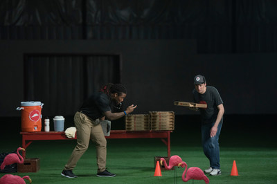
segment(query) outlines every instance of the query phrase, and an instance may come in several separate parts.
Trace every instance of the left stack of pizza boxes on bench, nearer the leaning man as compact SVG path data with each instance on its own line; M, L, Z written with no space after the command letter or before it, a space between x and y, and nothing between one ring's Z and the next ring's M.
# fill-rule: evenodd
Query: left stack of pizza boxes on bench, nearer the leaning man
M125 116L125 129L127 131L150 130L149 114L128 114Z

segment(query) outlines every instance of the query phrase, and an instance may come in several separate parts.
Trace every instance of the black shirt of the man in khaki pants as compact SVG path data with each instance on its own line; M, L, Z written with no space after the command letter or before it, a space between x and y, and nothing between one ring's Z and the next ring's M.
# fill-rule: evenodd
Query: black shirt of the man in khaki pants
M111 111L111 99L105 93L94 93L84 101L80 111L89 116L92 120L102 118L104 112Z

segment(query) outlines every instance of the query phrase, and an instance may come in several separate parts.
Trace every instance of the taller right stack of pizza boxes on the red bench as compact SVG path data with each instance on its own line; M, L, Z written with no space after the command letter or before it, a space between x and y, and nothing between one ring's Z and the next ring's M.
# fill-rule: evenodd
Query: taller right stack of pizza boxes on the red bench
M150 111L152 130L174 130L175 113L173 111Z

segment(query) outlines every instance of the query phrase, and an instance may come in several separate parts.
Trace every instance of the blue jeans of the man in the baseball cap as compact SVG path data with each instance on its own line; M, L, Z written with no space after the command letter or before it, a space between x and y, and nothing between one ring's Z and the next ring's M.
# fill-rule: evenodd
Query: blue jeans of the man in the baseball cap
M211 128L215 125L215 122L204 124L201 128L203 151L208 160L210 160L210 166L213 169L220 169L220 144L218 140L220 138L222 123L223 118L220 124L218 124L217 134L213 138L211 138Z

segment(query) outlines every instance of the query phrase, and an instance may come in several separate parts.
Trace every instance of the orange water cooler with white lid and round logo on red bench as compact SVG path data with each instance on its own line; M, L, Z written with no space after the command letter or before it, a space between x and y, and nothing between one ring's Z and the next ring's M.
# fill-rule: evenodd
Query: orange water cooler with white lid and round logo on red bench
M21 102L21 131L42 131L42 102Z

